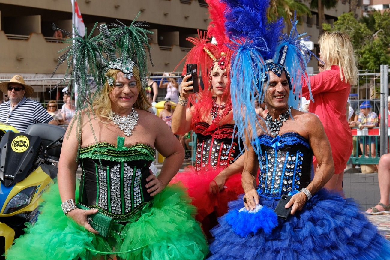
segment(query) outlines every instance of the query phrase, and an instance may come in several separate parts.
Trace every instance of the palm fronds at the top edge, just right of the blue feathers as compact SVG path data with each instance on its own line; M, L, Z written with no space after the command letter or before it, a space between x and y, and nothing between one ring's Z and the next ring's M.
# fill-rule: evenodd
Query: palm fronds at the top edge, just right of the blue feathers
M294 11L296 11L297 19L300 21L302 16L312 15L307 5L297 0L271 0L268 8L268 19L275 20L283 17L287 20L287 31L290 31L291 23L289 21L294 18Z

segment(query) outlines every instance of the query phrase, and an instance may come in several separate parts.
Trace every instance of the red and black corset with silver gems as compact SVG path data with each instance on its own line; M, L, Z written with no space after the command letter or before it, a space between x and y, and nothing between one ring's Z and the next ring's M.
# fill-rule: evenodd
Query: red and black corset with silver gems
M234 125L224 124L212 131L207 131L209 124L198 122L196 162L197 172L207 169L226 168L239 156L238 139L232 142Z

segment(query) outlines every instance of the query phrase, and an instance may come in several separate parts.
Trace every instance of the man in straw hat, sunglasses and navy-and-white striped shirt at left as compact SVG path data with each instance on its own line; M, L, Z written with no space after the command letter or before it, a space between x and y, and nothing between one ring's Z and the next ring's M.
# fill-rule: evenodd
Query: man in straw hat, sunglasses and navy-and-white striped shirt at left
M22 76L15 75L10 81L0 83L0 90L9 97L9 101L0 104L0 122L10 124L21 133L32 124L57 125L41 103L27 99L34 93L34 88L27 85Z

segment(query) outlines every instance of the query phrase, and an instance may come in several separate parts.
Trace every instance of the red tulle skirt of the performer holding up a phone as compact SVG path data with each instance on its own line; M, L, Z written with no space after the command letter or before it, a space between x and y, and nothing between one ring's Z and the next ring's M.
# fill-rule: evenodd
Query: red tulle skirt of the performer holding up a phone
M220 217L227 212L227 203L236 200L238 195L244 192L241 185L241 173L236 173L225 182L223 191L213 194L209 193L210 182L223 169L195 171L195 167L189 166L184 172L179 172L171 180L171 183L182 182L187 188L188 195L193 198L191 202L198 208L195 218L202 223L203 230L208 231L217 223L207 219L210 214Z

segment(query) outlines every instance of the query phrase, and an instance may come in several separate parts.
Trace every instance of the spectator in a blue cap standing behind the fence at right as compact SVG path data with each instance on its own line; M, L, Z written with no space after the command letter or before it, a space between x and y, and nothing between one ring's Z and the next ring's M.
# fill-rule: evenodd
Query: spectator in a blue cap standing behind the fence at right
M360 104L360 113L358 117L358 122L356 122L357 126L360 130L363 130L365 128L373 128L378 126L378 115L371 111L371 104L370 101L366 100L363 101L362 104ZM371 140L370 140L371 139ZM363 149L363 145L365 144L365 148ZM360 150L364 153L365 157L369 157L369 150L370 150L370 143L371 143L371 157L375 157L375 138L370 136L360 136L359 138L359 145Z

